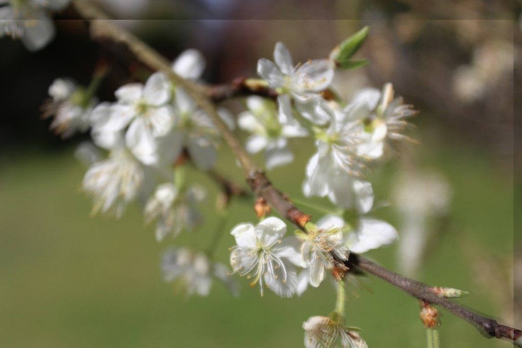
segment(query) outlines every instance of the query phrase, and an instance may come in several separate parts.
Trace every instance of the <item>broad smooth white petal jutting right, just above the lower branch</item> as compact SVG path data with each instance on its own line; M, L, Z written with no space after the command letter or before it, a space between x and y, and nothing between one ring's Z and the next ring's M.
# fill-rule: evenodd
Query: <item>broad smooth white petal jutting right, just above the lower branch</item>
M397 230L389 223L377 219L361 218L355 243L351 242L348 247L355 253L365 253L368 250L392 244L398 238Z

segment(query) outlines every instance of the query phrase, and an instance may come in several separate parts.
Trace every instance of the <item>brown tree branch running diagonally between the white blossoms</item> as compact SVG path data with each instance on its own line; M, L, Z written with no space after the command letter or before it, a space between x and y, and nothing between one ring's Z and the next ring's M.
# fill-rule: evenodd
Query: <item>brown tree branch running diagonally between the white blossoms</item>
M241 163L246 174L247 182L258 197L264 198L282 217L289 219L299 227L303 227L306 222L311 220L310 215L301 212L280 191L272 186L266 175L260 171L250 159L242 148L238 138L234 136L232 131L222 121L215 107L212 105L212 102L218 102L235 95L245 95L246 87L244 82L246 80L238 80L230 86L207 88L196 85L192 81L187 81L174 73L170 63L159 53L131 33L114 25L102 11L88 0L73 0L73 2L82 17L86 19L96 19L90 21L90 34L92 39L111 39L116 43L127 45L128 50L134 53L141 62L167 74L176 85L183 87L191 94L196 103L216 124L224 140L228 143L235 157ZM252 90L248 91L248 93L251 92ZM258 95L274 98L274 95L272 95L272 92L268 89L259 90ZM359 268L367 271L413 297L446 308L454 315L470 322L487 337L509 340L515 345L522 347L522 331L500 325L494 319L479 316L455 302L439 297L430 290L430 286L424 283L406 278L357 254L352 253L349 259L343 262L350 268Z

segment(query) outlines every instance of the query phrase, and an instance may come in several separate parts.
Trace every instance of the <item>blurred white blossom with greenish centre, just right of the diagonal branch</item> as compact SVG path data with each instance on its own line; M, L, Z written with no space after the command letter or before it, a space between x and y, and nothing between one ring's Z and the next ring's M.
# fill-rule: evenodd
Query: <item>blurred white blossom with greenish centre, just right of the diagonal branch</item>
M256 153L265 150L267 169L293 161L287 138L304 137L308 134L301 126L284 124L275 104L260 97L246 100L248 111L238 116L238 125L253 135L246 141L246 150Z

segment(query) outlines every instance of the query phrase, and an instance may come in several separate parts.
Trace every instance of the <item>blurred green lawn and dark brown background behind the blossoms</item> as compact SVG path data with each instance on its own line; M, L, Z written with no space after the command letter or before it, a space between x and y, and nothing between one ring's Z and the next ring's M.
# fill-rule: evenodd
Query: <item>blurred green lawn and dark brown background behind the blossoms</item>
M343 2L331 3L335 6L323 10L330 14L353 10L353 16L365 19L331 21L327 13L319 22L221 21L223 29L208 21L141 21L131 29L169 58L185 47L202 50L209 60L206 77L223 82L254 76L257 59L270 58L277 40L287 43L295 61L303 61L323 56L354 29L371 25L372 34L361 56L369 57L372 64L362 73L349 75L353 85L345 87L394 82L397 94L421 109L413 120L418 125L413 137L422 143L407 146L406 151L413 153L416 167L442 174L453 192L444 229L433 239L418 278L469 291L471 295L460 303L507 325L515 321L520 328L520 319L513 314L515 301L519 301L519 297L514 299L519 292L513 288L513 264L520 259L513 254L514 199L520 197L514 197L514 192L522 187L519 177L513 181L513 70L497 71L485 82L475 81L486 86L478 97L459 97L451 87L459 66L482 76L475 71L485 64L474 61L477 49L496 47L488 45L490 41L509 43L505 35L512 33L512 25L506 26L504 20L482 21L489 17L480 17L480 11L477 18L466 22L420 21L426 15L414 8L403 11L379 2L367 6L354 2L347 9ZM415 3L410 2L410 7ZM441 4L445 2L438 5L443 8ZM307 15L308 7L292 6L302 11L297 17ZM158 6L154 8L157 15ZM277 8L274 5L272 11ZM244 6L236 10L241 13ZM231 277L241 284L239 298L216 282L204 298L187 298L163 282L159 265L169 245L207 248L210 243L218 188L204 173L194 172L190 177L209 188L205 224L175 241L157 243L154 226L144 225L137 205L128 207L120 220L89 217L90 201L81 194L86 169L73 155L77 143L85 138L64 142L54 138L46 130L48 122L38 120L37 110L53 78L74 76L87 83L99 55L109 61L114 57L106 54L107 47L88 43L79 21L60 21L57 27L56 41L34 55L17 42L0 40L0 52L6 52L0 55L3 114L8 116L0 121L0 346L302 346L302 322L328 315L334 308L335 289L328 281L291 299L271 292L260 298L257 287L252 289L236 275ZM464 39L458 35L462 32L467 33ZM131 63L111 61L114 73L100 91L102 100L111 100L114 88L128 81L125 69ZM508 102L499 99L500 94L507 95ZM291 145L296 153L294 164L269 176L290 197L302 199L304 166L313 146L304 140ZM242 183L226 146L223 150L218 170ZM262 158L257 160L262 163ZM390 199L394 178L402 170L399 162L369 174L377 201ZM327 206L326 201L317 204ZM373 215L399 226L393 207ZM233 245L229 231L244 221L255 221L252 205L234 201L216 245L217 260L228 264L228 248ZM397 270L396 248L374 250L367 256ZM425 346L417 300L373 277L365 284L371 291L348 291L354 294L349 295L347 323L364 330L362 337L368 345ZM442 313L443 347L510 346L484 339L468 323Z

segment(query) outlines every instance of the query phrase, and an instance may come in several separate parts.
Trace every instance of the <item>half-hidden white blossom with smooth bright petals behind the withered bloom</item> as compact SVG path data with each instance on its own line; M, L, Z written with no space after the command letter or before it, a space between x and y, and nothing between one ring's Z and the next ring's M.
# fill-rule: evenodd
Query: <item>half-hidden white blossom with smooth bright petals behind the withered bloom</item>
M351 251L359 254L392 244L399 239L397 230L387 222L367 217L355 217L350 222L351 224L347 224L336 215L325 215L317 221L317 226L323 229L349 227L343 241Z

